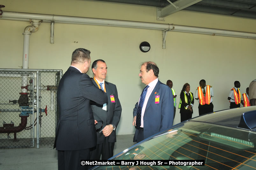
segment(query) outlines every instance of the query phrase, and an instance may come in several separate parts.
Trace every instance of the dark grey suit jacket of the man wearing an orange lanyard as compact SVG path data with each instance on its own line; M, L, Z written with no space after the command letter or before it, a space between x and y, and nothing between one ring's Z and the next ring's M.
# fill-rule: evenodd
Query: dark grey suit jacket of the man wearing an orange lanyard
M92 80L93 84L98 88L95 80ZM103 110L102 104L97 104L95 102L91 102L91 108L93 112L93 116L96 120L103 121L103 128L108 124L113 124L116 126L120 121L122 107L120 101L118 99L117 87L115 84L105 81L106 94L108 96L107 110ZM112 103L110 100L110 95L113 95L115 98L115 103ZM104 142L105 136L103 133L97 132L97 144L102 144ZM116 131L112 131L109 135L108 142L116 142Z

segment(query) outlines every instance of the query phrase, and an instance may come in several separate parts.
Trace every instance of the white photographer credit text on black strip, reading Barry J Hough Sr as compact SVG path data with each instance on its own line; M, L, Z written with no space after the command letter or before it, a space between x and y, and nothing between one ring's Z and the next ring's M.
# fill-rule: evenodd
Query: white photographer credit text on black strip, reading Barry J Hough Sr
M81 166L204 166L204 160L81 160Z

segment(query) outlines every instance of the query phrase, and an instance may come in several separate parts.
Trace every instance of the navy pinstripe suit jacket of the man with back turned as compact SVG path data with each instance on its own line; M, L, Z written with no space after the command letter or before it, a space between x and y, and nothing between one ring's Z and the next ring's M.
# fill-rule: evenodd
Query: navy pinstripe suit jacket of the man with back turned
M90 100L107 103L107 95L87 74L69 67L60 79L57 103L60 117L56 127L56 150L82 150L96 146L96 129Z

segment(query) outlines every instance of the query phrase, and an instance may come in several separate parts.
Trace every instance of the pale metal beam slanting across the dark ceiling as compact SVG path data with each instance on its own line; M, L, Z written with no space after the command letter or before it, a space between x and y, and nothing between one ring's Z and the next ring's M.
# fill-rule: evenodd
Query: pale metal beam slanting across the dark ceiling
M175 12L181 11L184 8L187 8L190 5L196 4L202 0L178 0L174 3L167 5L164 8L158 9L157 18L164 18L168 15L171 15Z

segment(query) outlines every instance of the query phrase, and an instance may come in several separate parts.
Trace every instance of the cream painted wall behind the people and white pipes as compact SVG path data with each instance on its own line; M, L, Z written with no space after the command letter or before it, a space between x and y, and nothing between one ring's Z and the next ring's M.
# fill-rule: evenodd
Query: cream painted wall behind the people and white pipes
M198 27L256 32L256 20L192 11L180 11L156 20L156 8L141 5L108 3L89 0L1 0L4 11L55 14L91 18L169 23ZM22 65L23 31L25 21L0 19L0 68L20 68ZM74 43L78 42L78 43ZM139 50L139 44L148 41L148 53ZM38 32L30 36L29 68L67 70L71 53L82 47L91 51L91 60L103 59L108 66L107 81L117 85L122 104L122 116L117 134L132 134L132 110L144 84L141 83L139 65L154 61L160 68L159 79L171 79L177 93L184 83L190 83L195 93L199 81L213 86L214 111L228 109L229 90L234 81L241 83L244 93L255 79L255 39L210 36L192 33L168 32L166 49L162 49L162 32L156 30L121 28L96 25L54 24L54 44L50 44L50 23L42 23ZM93 76L89 71L89 76ZM198 116L198 102L193 117ZM174 124L180 122L176 111Z

